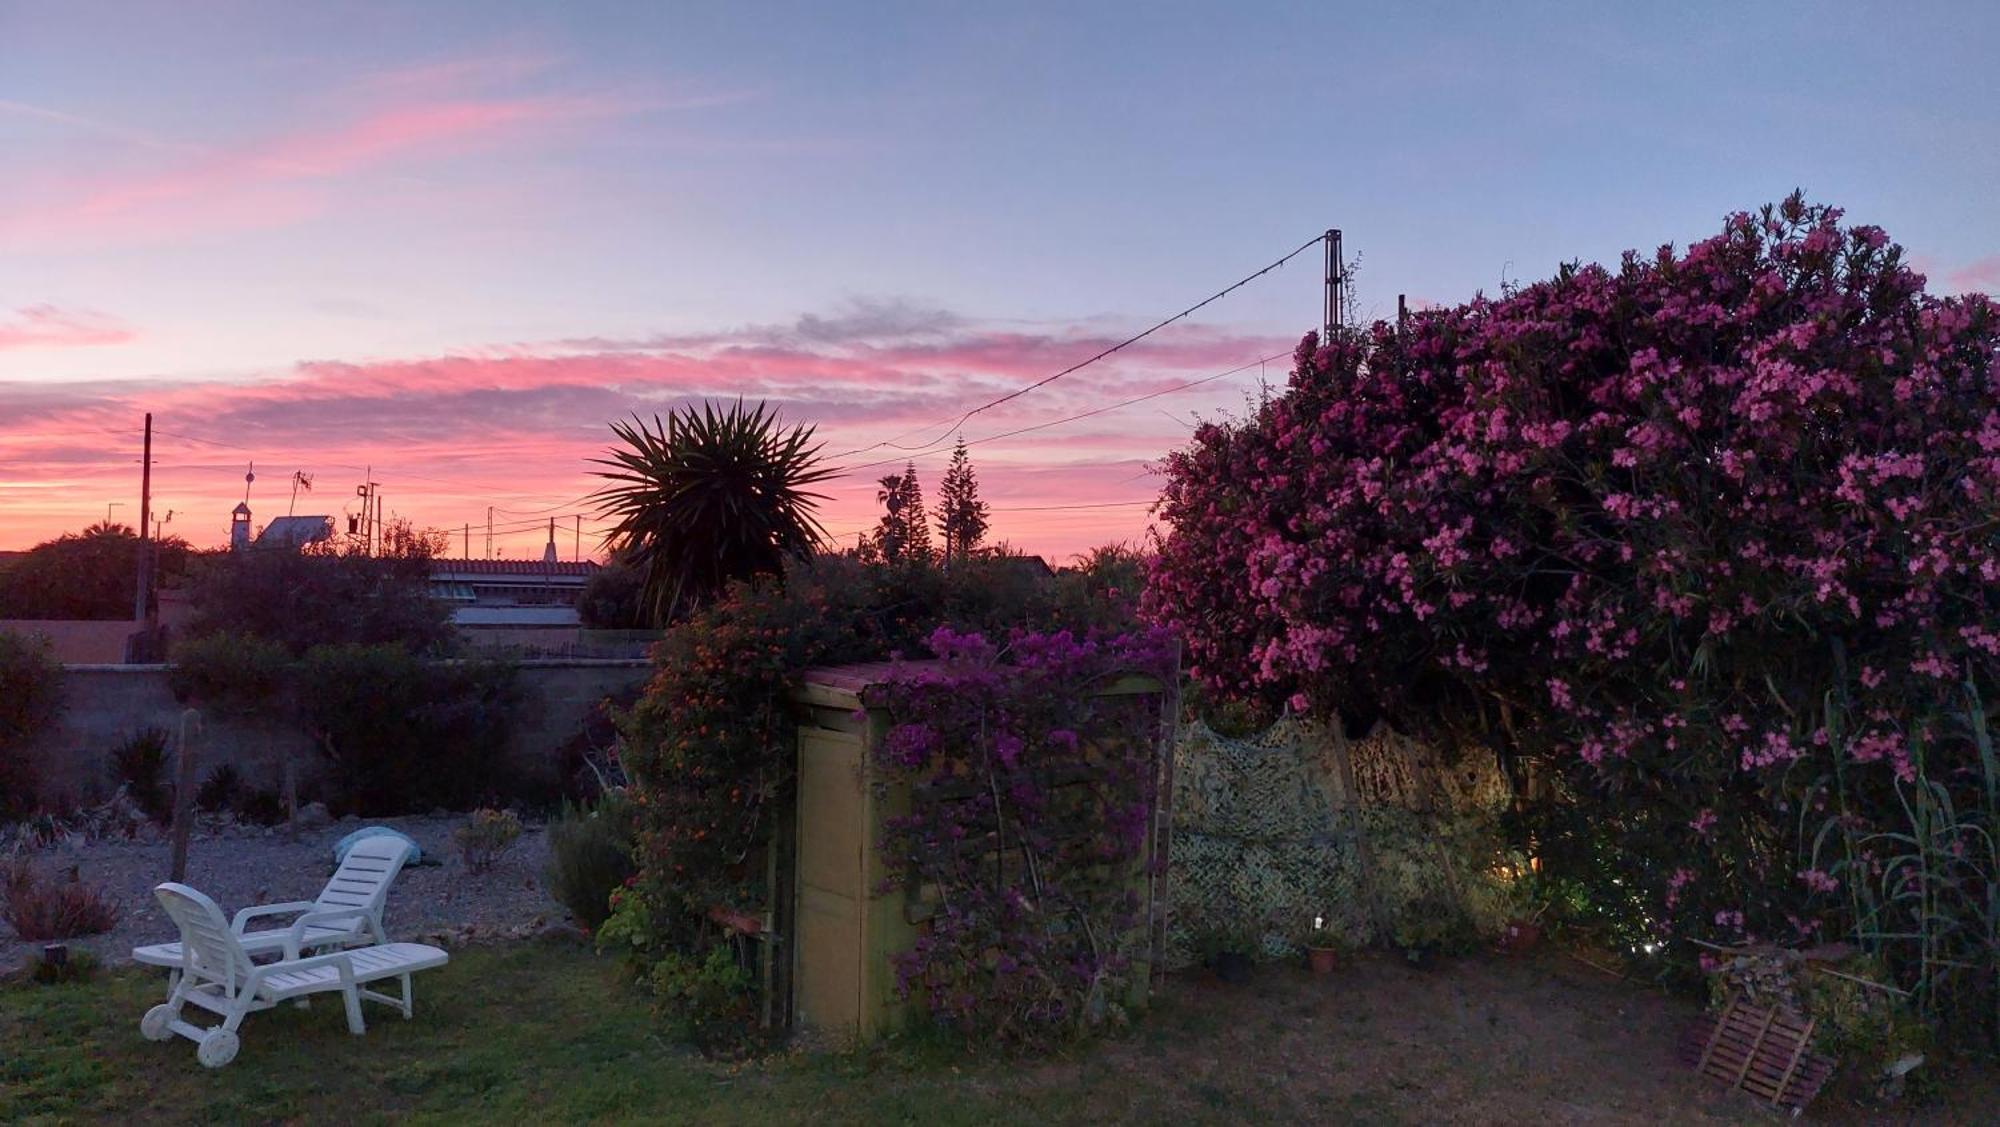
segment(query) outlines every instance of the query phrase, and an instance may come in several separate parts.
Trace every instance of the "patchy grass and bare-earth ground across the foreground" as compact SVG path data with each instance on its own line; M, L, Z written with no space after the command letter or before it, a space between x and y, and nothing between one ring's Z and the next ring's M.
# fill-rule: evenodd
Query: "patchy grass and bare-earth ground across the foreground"
M456 951L418 977L414 1021L370 1005L366 1037L326 995L250 1015L220 1071L138 1035L162 991L140 971L0 985L0 1121L1774 1121L1672 1063L1680 1003L1560 955L1176 979L1136 1029L1038 1061L718 1065L662 1041L610 959L534 943Z

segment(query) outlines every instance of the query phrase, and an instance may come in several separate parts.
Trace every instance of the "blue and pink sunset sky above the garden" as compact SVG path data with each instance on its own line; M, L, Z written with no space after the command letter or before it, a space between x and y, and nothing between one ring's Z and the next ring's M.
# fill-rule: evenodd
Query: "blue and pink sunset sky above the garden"
M608 420L736 396L864 450L852 542L876 444L936 440L930 490L956 414L1330 226L1370 316L1794 186L2000 290L2000 6L1656 8L0 0L0 548L136 522L150 410L198 546L254 460L258 524L372 466L474 556L488 506L500 554L590 554ZM1318 304L1308 252L968 422L1240 370L980 442L994 536L1138 538Z

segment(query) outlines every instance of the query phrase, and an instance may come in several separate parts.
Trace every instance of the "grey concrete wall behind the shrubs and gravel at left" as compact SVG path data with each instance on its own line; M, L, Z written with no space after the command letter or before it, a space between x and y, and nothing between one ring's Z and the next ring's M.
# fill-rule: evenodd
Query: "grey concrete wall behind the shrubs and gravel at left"
M506 753L530 769L548 765L598 699L644 681L646 673L646 661L522 661L522 703ZM176 731L180 725L182 707L166 687L166 665L66 665L62 699L62 717L32 751L44 801L110 793L106 761L118 743L144 727ZM310 741L284 721L206 717L194 745L200 775L234 763L254 787L276 789L288 753L298 755L302 779L320 765Z

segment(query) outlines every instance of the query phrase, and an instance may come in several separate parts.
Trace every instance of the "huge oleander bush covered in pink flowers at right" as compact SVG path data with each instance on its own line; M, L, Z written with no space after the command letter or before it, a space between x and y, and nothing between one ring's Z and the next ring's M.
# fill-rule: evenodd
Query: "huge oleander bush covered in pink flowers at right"
M1498 747L1620 939L1856 939L2000 1029L1996 348L1798 196L1308 336L1168 458L1148 607L1210 691Z

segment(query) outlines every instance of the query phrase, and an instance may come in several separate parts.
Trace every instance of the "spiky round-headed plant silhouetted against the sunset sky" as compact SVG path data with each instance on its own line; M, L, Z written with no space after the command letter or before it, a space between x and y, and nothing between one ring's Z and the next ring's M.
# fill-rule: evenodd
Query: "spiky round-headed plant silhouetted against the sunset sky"
M718 593L730 579L782 573L788 558L824 540L814 518L822 494L806 486L838 470L820 466L810 426L784 430L762 402L670 412L648 426L614 422L624 444L594 460L612 484L596 494L618 518L612 552L644 575L640 607L658 625Z

